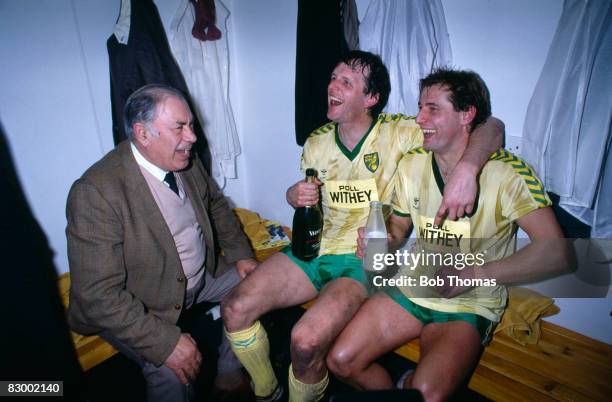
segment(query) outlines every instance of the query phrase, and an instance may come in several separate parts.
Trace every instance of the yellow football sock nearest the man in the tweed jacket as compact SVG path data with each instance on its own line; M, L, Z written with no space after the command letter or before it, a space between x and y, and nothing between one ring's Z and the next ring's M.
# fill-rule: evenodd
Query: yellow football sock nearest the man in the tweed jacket
M274 392L278 380L270 362L270 343L268 334L259 321L247 329L237 332L225 331L232 350L249 372L256 396L268 396Z

